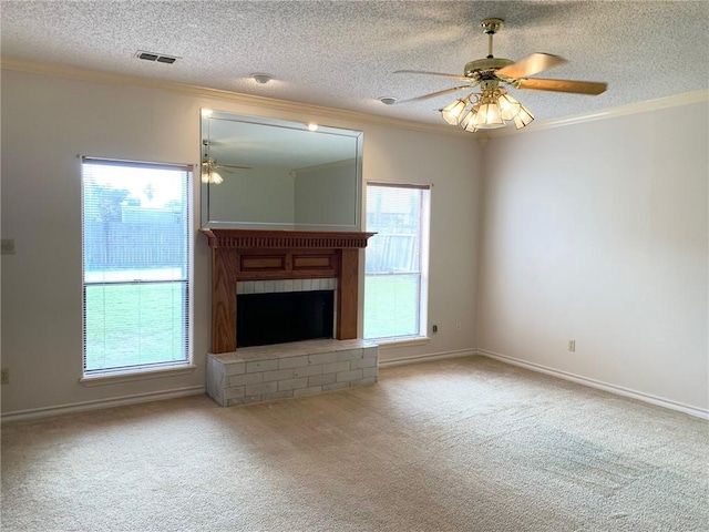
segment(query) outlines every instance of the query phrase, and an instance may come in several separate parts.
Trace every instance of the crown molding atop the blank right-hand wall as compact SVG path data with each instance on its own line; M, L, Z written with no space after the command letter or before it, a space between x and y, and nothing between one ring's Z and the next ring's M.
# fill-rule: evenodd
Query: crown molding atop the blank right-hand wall
M501 127L499 130L489 130L486 139L499 139L521 133L533 133L535 131L545 131L554 127L563 127L566 125L583 124L585 122L595 122L597 120L616 119L628 114L645 113L648 111L657 111L660 109L678 108L681 105L690 105L692 103L709 102L709 90L687 92L672 96L658 98L657 100L648 100L646 102L629 103L617 108L609 108L597 113L578 114L575 116L566 116L562 119L545 120L534 122L531 127L515 130L513 127Z

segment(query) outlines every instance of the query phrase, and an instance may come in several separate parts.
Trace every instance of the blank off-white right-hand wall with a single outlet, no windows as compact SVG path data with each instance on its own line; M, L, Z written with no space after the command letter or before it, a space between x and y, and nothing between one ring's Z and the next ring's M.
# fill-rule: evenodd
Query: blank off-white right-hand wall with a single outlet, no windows
M707 409L707 110L490 142L480 348Z

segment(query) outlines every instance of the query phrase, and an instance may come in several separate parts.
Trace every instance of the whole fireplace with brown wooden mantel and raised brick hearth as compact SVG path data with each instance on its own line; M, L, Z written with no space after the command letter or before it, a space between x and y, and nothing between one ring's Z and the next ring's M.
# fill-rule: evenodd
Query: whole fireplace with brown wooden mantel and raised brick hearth
M357 339L359 249L372 233L202 232L212 248L209 397L230 407L377 382L379 348ZM282 296L288 301L302 293L312 293L305 297L315 303L294 303L285 316L250 305L250 299L270 299L260 296ZM276 307L290 305L280 299ZM299 314L320 315L316 319L322 320L321 330L308 335L329 334L335 339L290 341L270 336L284 334L284 323ZM249 338L261 326L267 339L258 330L256 339ZM267 344L257 345L261 342Z

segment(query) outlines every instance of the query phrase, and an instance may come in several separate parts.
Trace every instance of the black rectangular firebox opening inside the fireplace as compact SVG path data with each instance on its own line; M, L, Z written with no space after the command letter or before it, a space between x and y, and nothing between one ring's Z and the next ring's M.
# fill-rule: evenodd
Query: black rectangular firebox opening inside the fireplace
M332 338L333 290L239 294L236 347Z

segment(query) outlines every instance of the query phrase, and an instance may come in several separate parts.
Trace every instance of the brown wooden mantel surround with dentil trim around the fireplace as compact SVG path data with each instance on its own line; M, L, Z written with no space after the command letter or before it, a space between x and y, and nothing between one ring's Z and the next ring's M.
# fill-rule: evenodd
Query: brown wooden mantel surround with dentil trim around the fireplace
M357 338L359 249L374 233L201 229L212 248L212 352L236 350L239 280L335 277L339 340Z

